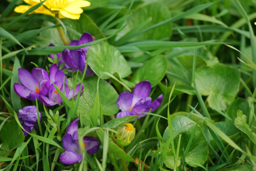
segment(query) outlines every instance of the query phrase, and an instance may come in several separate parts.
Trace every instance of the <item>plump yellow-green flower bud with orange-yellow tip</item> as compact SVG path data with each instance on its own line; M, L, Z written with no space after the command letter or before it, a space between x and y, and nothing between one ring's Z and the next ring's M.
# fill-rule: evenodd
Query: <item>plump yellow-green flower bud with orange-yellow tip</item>
M117 132L119 134L116 134L116 140L122 147L129 145L135 137L135 128L131 123L124 124Z

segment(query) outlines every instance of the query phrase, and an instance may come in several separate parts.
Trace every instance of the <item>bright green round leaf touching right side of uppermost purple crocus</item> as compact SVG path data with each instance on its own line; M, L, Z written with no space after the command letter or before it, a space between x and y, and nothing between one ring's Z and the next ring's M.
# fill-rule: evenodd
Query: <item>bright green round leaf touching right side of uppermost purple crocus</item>
M132 73L131 67L114 46L106 42L101 42L91 46L87 50L88 65L99 76L102 72L114 74L117 72L121 78ZM101 75L107 79L108 75Z

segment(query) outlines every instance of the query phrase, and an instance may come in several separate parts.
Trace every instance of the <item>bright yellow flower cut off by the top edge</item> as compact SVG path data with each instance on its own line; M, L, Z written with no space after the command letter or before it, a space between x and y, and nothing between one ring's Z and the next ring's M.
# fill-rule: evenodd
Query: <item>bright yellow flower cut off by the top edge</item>
M28 11L29 8L40 3L40 0L24 0L29 5L17 6L14 11L18 13L24 13ZM84 0L46 0L42 6L37 8L31 13L41 13L54 16L58 13L59 18L70 18L79 19L80 14L83 12L81 7L90 6L90 2ZM30 14L31 14L30 13Z

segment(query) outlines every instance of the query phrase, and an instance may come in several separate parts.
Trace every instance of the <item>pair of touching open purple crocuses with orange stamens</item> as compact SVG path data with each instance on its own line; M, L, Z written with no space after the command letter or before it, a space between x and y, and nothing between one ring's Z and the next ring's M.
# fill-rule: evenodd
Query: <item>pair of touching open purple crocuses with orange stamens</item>
M52 106L63 103L58 91L55 89L54 84L63 92L63 86L65 89L65 96L71 99L73 96L73 89L69 90L67 85L67 77L63 71L59 70L56 64L53 64L50 68L50 77L45 69L36 67L32 69L31 74L23 68L19 68L19 83L14 83L14 91L23 98L28 98L29 100L39 99L44 105ZM65 79L65 80L64 80ZM64 85L63 85L64 80ZM80 84L75 87L75 96L78 94ZM84 85L82 84L81 91L84 90ZM48 97L47 97L48 95ZM81 93L82 95L82 93Z

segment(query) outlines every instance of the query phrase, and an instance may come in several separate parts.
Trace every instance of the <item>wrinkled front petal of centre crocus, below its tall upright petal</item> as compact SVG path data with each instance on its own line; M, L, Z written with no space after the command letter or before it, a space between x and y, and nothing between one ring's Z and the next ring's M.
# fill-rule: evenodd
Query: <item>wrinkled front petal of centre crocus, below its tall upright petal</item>
M136 113L136 115L139 116L139 118L146 116L147 114L141 113L141 112L148 112L148 107L151 105L151 97L146 97L143 99L140 99L132 108L132 112Z

